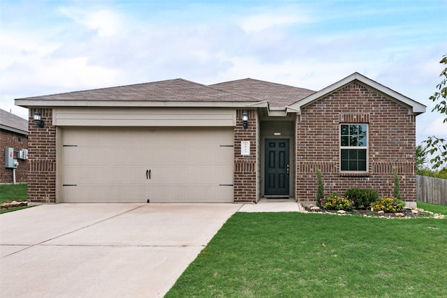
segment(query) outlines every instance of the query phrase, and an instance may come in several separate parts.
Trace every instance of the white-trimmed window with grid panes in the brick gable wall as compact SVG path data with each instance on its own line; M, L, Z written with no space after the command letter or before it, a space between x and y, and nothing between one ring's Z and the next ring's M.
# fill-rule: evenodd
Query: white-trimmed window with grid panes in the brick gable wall
M341 172L367 172L367 140L367 124L340 124Z

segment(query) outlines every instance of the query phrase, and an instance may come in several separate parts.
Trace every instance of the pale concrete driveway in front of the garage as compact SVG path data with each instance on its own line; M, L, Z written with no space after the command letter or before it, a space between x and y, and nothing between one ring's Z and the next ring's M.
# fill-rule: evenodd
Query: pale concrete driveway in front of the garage
M1 214L1 297L163 297L240 204L49 204Z

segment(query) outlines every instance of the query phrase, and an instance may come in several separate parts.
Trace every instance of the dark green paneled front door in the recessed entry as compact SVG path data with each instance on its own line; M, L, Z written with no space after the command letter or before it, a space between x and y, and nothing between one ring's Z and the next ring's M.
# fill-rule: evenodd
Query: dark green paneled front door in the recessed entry
M289 140L265 140L265 195L288 196Z

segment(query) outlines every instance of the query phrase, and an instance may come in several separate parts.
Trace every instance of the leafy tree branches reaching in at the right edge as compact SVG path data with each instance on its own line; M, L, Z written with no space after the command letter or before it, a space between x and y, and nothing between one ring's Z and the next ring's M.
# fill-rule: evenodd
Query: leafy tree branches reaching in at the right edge
M447 66L447 55L444 55L441 61L439 61L440 64L446 64ZM433 102L439 101L436 105L434 105L434 108L432 112L437 111L441 114L447 115L447 67L444 68L444 70L441 71L441 75L439 77L442 77L443 79L441 82L437 85L437 89L439 91L434 92L432 96L430 96L430 100ZM442 121L442 123L447 122L447 117ZM430 159L430 163L433 164L434 169L442 169L447 166L447 144L446 139L441 137L435 137L432 135L431 137L428 137L427 140L424 141L427 143L427 151L430 153L432 158Z

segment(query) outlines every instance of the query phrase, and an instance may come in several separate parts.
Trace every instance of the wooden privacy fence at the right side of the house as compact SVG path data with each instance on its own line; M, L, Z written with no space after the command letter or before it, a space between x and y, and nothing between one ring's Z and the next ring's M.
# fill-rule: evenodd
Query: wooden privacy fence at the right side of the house
M447 206L447 179L416 175L416 200Z

